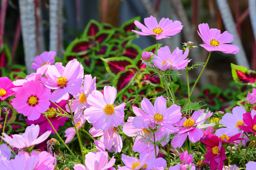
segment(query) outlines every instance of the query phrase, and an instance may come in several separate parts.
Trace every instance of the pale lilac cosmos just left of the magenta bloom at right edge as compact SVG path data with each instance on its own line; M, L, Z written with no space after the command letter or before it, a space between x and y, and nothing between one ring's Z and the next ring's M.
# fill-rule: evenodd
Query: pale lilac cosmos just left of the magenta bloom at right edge
M242 106L237 106L233 108L232 112L233 114L226 113L222 117L220 122L225 127L217 129L215 135L221 136L222 134L235 135L238 133L243 133L238 125L244 125L243 114L246 113L245 108L243 108Z

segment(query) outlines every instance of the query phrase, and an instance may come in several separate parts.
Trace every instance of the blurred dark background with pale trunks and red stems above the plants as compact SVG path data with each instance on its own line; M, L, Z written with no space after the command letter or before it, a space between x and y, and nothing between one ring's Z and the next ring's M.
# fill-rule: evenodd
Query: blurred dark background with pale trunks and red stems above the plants
M182 22L180 34L159 41L171 51L181 49L182 42L202 43L196 31L200 23L233 34L240 51L236 55L213 52L201 85L226 88L233 80L230 63L256 70L256 0L1 0L0 67L5 67L8 54L11 65L25 65L31 73L33 59L43 51L57 51L62 59L91 19L119 27L137 16L144 24L151 15L158 22L162 17ZM133 43L144 49L155 39L140 36ZM190 58L205 62L208 54L199 47L192 49ZM195 69L190 76L196 78L200 71Z

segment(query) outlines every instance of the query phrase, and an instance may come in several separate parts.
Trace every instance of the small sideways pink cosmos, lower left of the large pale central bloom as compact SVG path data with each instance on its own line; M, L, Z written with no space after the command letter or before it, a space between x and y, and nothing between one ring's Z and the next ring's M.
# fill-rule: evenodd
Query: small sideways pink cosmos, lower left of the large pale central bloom
M81 116L79 119L75 119L74 120L75 123L76 123L76 128L77 130L83 126L83 124L85 123L85 118L84 116ZM74 127L69 127L65 130L65 137L66 140L65 140L65 143L69 143L75 136L76 132L75 132L75 128Z

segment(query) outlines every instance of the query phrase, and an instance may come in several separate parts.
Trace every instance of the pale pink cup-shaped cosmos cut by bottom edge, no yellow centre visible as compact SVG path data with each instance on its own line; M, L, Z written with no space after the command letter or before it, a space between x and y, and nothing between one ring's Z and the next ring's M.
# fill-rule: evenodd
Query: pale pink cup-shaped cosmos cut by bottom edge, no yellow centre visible
M89 152L85 155L85 166L82 164L74 165L74 170L115 170L112 168L116 159L114 156L110 159L108 152Z

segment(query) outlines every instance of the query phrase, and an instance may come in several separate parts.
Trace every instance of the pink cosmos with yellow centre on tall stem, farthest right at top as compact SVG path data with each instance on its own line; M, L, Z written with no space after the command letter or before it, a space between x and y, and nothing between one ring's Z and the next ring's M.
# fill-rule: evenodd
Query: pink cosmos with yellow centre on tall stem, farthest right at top
M238 46L226 44L233 42L233 35L229 34L228 31L220 34L220 30L216 28L209 28L208 24L200 24L198 26L202 41L205 44L200 44L201 47L207 51L222 51L224 53L236 54L239 51Z

